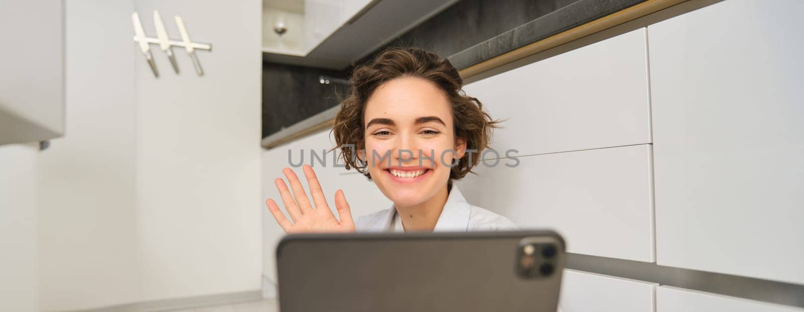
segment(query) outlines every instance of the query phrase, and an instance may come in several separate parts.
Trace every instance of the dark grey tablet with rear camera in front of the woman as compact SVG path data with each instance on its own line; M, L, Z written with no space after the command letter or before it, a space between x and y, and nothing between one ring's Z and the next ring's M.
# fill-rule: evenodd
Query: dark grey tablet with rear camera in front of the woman
M282 312L555 312L552 231L295 234L277 246Z

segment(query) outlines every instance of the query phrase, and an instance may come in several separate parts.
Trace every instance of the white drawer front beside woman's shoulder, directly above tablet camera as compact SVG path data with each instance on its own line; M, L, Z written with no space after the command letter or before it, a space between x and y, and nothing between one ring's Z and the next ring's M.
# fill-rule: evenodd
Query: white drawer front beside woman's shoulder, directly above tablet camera
M654 261L650 145L481 162L457 185L520 228L553 228L568 252ZM492 162L488 162L492 165Z

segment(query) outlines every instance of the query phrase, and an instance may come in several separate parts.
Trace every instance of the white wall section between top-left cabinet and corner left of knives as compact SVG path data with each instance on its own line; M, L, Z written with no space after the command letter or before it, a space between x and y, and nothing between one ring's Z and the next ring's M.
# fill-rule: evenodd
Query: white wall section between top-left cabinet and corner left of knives
M43 310L109 306L142 296L135 54L123 36L131 32L130 18L121 18L132 11L133 3L124 1L66 5L66 134L52 141L39 162Z

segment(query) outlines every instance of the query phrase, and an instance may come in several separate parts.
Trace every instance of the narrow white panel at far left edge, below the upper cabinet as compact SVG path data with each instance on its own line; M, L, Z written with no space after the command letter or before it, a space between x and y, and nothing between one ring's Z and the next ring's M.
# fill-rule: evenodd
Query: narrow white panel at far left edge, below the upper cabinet
M0 146L0 311L39 310L36 158L39 146Z

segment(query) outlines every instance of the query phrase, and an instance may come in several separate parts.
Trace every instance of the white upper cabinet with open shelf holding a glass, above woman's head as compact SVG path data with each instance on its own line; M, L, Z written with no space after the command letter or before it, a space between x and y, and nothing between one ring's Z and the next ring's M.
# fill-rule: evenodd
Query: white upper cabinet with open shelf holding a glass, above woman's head
M263 0L273 63L341 70L457 0Z

